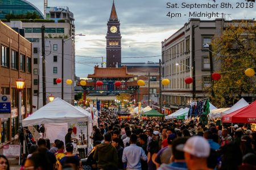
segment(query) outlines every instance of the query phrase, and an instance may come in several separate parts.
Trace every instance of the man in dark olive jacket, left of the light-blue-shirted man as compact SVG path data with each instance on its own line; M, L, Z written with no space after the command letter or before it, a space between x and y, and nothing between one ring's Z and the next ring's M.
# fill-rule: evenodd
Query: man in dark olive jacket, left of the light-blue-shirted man
M104 135L104 143L98 145L93 159L98 162L98 169L118 169L117 150L110 144L112 135L106 133Z

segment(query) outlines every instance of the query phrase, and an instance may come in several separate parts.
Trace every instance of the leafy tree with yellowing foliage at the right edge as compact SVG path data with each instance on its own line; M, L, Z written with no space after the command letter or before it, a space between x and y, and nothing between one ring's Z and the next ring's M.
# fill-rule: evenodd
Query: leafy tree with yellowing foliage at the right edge
M255 76L244 73L256 66L255 26L253 20L236 20L226 25L221 36L214 37L214 65L220 68L214 71L221 73L221 79L214 82L212 103L219 107L233 105L243 95L256 94Z

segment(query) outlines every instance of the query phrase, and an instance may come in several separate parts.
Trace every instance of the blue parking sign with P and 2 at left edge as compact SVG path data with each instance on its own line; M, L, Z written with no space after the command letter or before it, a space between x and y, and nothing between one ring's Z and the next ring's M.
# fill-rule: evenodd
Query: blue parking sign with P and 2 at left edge
M0 118L11 117L11 97L10 95L0 95Z

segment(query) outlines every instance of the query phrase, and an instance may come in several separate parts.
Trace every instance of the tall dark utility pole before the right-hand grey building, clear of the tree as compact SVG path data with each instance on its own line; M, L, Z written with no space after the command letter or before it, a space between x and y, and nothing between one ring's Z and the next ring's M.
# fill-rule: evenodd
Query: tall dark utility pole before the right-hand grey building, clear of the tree
M197 26L198 27L198 26ZM196 99L196 61L195 61L195 25L192 25L192 94L193 100Z

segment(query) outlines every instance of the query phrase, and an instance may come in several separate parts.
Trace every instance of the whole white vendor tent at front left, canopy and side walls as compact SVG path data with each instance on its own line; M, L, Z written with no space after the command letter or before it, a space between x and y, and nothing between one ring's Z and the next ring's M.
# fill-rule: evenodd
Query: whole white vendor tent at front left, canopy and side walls
M87 148L88 144L90 145L89 135L92 134L92 128L88 125L90 122L92 122L92 118L89 112L81 111L66 101L56 98L22 120L22 125L26 127L44 124L46 138L51 143L55 139L65 141L68 128L73 128L72 137L79 139L79 144L88 142L84 145Z

